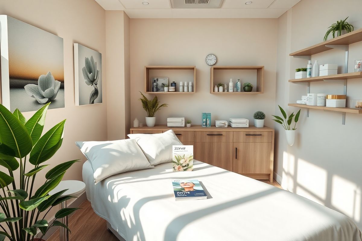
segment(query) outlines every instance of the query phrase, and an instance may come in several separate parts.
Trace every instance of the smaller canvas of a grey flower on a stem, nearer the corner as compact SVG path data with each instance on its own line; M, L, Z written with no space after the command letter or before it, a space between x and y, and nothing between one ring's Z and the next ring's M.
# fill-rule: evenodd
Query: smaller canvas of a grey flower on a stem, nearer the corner
M74 44L75 104L102 103L102 54Z

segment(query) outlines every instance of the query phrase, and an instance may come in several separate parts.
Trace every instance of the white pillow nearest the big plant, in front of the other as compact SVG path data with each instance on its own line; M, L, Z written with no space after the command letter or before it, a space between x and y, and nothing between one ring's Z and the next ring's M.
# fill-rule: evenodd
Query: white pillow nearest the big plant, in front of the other
M134 139L75 143L92 165L95 184L118 173L153 168Z

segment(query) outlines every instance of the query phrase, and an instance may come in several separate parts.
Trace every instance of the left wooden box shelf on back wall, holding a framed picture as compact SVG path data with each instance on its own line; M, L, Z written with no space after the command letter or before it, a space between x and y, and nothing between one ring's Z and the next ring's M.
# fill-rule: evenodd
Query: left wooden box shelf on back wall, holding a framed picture
M152 92L150 70L193 70L193 91L192 92ZM166 77L166 76L164 76ZM169 80L170 81L170 80ZM186 80L185 81L190 81ZM169 83L170 85L170 83ZM144 90L147 94L195 94L196 92L196 66L144 66Z

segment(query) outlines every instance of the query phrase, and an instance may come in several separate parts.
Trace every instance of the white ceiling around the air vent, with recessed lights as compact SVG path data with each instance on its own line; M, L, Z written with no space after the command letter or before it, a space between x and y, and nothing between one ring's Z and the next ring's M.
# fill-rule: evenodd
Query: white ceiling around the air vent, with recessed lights
M124 10L130 18L278 18L300 0L252 0L249 5L249 0L224 0L218 9L172 9L170 0L96 1L105 10Z

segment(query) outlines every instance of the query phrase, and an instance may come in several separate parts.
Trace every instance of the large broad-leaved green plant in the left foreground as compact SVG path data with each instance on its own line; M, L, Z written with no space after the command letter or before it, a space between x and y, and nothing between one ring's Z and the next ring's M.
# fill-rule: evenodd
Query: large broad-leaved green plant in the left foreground
M35 176L48 166L44 163L63 142L66 120L42 135L49 104L41 107L28 121L18 109L11 113L0 104L0 165L8 171L8 174L0 171L0 241L6 237L10 241L30 241L39 231L43 237L52 226L68 228L56 219L77 209L60 209L52 223L45 220L52 207L73 198L61 197L66 190L53 195L49 195L49 191L59 184L66 170L78 160L56 165L45 174L44 184L37 190L34 187ZM15 171L20 174L16 175L19 176L17 180L14 178Z

